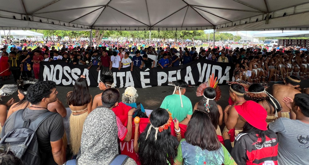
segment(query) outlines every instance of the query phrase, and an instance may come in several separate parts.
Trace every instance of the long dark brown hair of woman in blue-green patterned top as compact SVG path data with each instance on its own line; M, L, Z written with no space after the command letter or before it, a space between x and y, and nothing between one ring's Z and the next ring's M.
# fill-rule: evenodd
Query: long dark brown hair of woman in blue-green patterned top
M216 130L206 112L194 110L185 134L187 143L203 150L215 151L221 147Z

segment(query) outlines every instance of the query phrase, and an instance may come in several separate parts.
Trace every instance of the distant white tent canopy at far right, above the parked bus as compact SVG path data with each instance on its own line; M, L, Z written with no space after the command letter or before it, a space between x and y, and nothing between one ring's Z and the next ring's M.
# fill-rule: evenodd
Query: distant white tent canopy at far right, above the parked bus
M266 31L254 33L253 37L309 37L309 31Z

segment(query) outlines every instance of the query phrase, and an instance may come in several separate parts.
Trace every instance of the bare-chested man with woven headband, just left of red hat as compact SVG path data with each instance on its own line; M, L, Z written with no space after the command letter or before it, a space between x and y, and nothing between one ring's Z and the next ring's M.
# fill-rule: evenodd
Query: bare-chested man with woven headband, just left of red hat
M241 121L238 118L238 113L235 109L236 105L241 105L246 102L244 98L245 88L239 84L232 84L229 90L230 98L234 101L233 105L229 105L225 108L224 114L224 123L225 127L223 132L228 132L230 129L235 128L235 136L242 131L242 128L245 122ZM233 146L233 143L232 143Z

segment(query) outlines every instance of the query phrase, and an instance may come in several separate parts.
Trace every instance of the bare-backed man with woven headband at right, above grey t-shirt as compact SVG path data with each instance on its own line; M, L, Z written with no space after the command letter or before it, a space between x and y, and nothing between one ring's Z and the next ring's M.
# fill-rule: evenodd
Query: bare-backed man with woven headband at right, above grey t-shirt
M291 111L288 107L286 107L285 103L282 102L282 99L285 97L289 97L294 99L294 95L297 93L301 93L295 88L299 87L299 83L301 80L296 76L286 77L284 79L285 85L274 84L272 89L272 93L274 98L276 98L282 106L281 117L290 118L295 120L295 113ZM280 116L278 116L280 117Z

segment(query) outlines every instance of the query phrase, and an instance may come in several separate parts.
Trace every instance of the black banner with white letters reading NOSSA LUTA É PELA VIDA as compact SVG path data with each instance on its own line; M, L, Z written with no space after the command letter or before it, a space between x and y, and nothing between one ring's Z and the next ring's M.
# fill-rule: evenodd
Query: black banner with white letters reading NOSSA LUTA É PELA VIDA
M231 63L217 63L211 60L197 60L191 63L170 68L138 68L133 71L128 68L112 68L114 83L118 88L134 86L135 88L147 88L151 86L167 85L178 79L185 80L189 85L198 85L208 80L214 73L218 77L219 84L230 81L233 76ZM40 81L52 80L60 86L73 86L80 75L85 75L89 87L97 87L100 81L100 71L97 67L89 70L84 65L73 65L65 61L40 62Z

